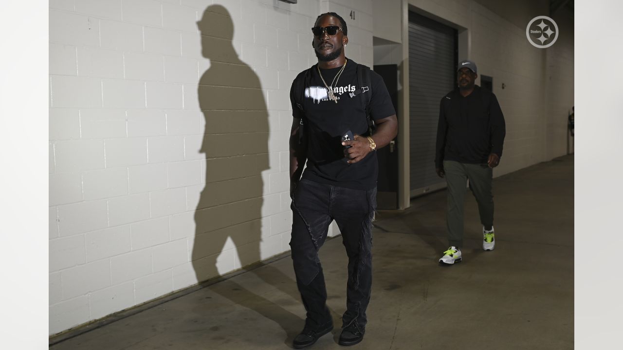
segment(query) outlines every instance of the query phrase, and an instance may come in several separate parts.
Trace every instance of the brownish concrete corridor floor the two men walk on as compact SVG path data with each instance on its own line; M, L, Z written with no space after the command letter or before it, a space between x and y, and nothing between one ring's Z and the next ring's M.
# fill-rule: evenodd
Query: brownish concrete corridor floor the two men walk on
M465 203L463 262L447 248L445 191L380 212L369 323L358 349L573 349L573 156L494 180L497 245L483 252L477 206ZM341 238L321 250L334 323L345 310ZM260 267L93 329L50 349L288 349L302 329L292 260ZM340 329L313 349L341 349ZM54 342L54 339L50 339Z

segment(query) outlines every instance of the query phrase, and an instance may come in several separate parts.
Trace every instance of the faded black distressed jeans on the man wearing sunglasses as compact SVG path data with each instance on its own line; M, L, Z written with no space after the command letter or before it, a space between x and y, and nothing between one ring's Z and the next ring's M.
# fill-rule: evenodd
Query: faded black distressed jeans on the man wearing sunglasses
M321 329L331 323L326 307L325 276L318 250L333 220L340 227L348 255L346 311L342 326L356 322L365 329L372 287L372 221L376 188L364 191L302 179L292 201L292 260L298 290L307 311L305 326Z

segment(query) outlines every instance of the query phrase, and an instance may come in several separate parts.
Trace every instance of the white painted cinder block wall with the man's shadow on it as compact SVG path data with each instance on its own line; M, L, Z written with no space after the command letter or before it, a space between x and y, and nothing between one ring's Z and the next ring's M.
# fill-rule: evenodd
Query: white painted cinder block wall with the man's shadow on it
M50 0L50 334L289 249L316 16L373 64L370 0L298 2Z

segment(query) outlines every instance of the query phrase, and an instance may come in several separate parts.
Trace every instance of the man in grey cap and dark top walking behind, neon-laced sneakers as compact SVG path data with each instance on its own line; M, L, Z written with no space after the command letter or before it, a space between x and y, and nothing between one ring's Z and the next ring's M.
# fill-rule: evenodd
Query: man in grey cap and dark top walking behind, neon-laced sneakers
M476 64L457 67L458 88L441 99L437 126L435 170L447 182L447 227L450 247L439 259L443 265L462 260L465 185L478 202L484 250L495 247L493 230L493 168L500 164L506 135L504 115L492 92L475 85Z

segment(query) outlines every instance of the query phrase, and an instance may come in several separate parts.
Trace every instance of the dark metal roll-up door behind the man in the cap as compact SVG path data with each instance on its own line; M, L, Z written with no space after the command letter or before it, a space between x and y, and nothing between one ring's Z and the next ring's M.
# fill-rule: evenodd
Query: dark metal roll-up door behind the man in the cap
M457 31L409 12L411 197L445 187L435 173L439 101L455 86Z

